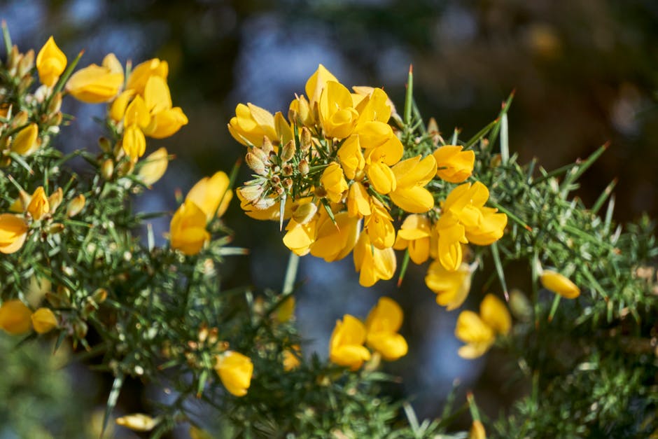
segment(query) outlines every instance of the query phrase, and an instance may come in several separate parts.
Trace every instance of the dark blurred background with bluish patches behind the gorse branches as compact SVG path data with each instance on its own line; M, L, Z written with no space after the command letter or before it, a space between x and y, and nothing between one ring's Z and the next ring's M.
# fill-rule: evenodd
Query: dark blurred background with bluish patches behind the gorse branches
M202 176L230 172L244 155L226 129L235 106L252 102L285 115L293 94L304 91L322 63L345 85L383 87L400 108L413 64L423 116L434 116L444 134L459 127L465 138L493 120L516 90L510 147L521 162L536 157L552 169L609 141L582 179L580 197L591 204L618 178L617 221L645 211L658 214L654 0L2 0L0 18L21 50L38 50L50 35L69 60L84 49L81 67L99 64L109 52L133 64L151 57L169 62L174 106L183 108L190 123L174 137L150 142L151 151L166 146L176 160L155 189L139 198L143 210L173 211L175 190L186 193ZM62 130L62 148L95 150L102 129L92 117L102 116L104 106L69 99L64 111L76 120ZM241 169L238 183L246 179ZM225 287L280 288L288 253L278 225L246 218L235 202L225 221L236 232L235 244L251 249L250 256L223 266ZM155 223L157 235L168 226L169 218ZM419 416L435 417L459 379L461 391L473 389L484 412L495 418L524 386L503 388L509 371L500 368L504 358L495 351L477 361L457 356L460 343L452 335L457 314L435 305L423 282L425 270L410 267L402 288L392 280L367 289L358 286L351 257L332 264L303 258L296 312L308 340L302 349L326 356L336 319L345 313L365 316L379 296L389 295L405 309L402 333L410 351L386 365L403 382L387 391L410 398ZM477 307L479 284L475 281L466 307ZM104 405L109 377L80 366L60 375L70 394L85 394L85 407ZM66 385L56 390L66 395ZM66 414L71 410L90 423L93 410L78 410L76 398L59 403L45 426L71 421ZM118 414L148 412L149 398L157 396L135 382L120 398ZM12 425L28 422L26 416L0 410L0 438L23 437Z

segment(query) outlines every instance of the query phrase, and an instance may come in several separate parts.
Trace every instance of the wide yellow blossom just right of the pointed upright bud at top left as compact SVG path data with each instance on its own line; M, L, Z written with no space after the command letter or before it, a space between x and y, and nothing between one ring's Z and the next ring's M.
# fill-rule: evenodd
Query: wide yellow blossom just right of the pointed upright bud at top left
M78 101L98 104L114 99L122 86L123 69L116 56L110 53L102 65L91 64L71 75L65 90Z

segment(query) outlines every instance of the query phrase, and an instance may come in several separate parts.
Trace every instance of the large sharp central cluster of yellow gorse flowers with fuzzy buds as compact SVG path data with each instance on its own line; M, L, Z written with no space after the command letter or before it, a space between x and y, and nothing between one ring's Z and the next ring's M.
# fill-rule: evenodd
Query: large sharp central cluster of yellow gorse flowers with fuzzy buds
M253 218L289 219L288 249L328 262L353 253L359 283L372 286L393 277L394 249L408 249L418 264L431 256L456 272L465 244L489 245L503 235L507 216L484 206L482 183L463 183L440 199L449 183L471 176L473 151L403 146L402 132L389 125L400 118L386 92L350 92L322 65L305 91L290 103L287 120L239 104L228 125L255 172L237 190L241 207Z

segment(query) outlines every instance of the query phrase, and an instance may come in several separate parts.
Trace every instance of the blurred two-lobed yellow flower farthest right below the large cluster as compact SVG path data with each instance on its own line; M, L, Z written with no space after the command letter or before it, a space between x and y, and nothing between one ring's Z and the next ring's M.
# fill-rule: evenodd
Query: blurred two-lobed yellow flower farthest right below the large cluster
M463 358L477 358L496 341L496 334L507 335L512 317L505 304L493 294L487 294L479 305L479 315L462 311L457 318L455 336L466 343L459 348Z

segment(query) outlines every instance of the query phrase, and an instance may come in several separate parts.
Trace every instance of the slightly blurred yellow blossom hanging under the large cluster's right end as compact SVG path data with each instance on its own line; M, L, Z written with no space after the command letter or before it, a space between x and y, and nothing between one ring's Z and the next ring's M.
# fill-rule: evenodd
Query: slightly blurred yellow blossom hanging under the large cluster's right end
M461 306L470 291L470 269L462 263L457 270L449 271L435 260L425 276L425 284L436 293L436 302L447 311Z

